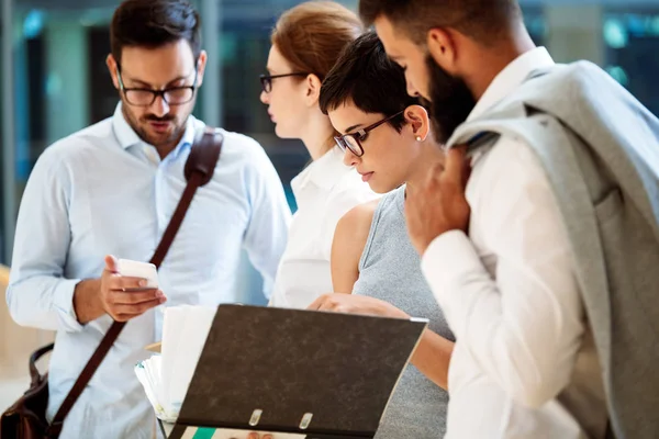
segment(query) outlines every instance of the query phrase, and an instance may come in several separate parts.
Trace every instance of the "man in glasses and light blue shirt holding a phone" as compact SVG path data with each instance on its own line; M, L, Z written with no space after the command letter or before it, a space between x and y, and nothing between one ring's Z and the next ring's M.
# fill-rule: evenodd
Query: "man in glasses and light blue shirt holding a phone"
M115 257L148 260L177 206L204 126L191 112L206 54L186 0L126 0L112 19L111 45L121 102L112 117L40 157L21 204L7 300L19 324L57 331L49 418L113 319L130 320L62 437L150 439L155 418L133 368L159 339L156 306L235 302L242 248L268 295L290 210L260 145L223 131L213 179L196 194L160 268L161 291L131 292L142 284L116 273Z

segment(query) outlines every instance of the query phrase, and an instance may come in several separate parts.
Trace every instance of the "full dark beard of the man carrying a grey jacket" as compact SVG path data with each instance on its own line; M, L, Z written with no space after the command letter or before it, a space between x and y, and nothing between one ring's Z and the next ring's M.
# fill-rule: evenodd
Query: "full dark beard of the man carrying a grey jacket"
M431 55L426 56L429 72L428 99L422 104L429 109L433 132L440 144L446 144L453 133L469 116L476 99L467 83L439 67Z

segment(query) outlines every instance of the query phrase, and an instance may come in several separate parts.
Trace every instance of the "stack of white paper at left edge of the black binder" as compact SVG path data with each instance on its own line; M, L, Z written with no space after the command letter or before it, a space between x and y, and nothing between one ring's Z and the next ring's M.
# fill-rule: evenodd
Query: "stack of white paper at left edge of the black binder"
M165 308L160 353L135 367L159 419L174 423L178 418L216 311L215 306L191 305Z

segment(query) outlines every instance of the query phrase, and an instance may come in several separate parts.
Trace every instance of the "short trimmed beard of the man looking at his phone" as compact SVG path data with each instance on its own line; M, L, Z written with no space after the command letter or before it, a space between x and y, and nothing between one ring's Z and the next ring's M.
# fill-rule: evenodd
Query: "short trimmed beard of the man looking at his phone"
M155 146L156 148L167 148L176 145L187 128L188 117L192 113L194 108L194 101L191 102L190 109L183 111L178 116L176 114L166 114L163 117L158 117L153 113L147 113L142 116L135 115L131 111L131 105L125 102L122 97L122 112L131 128L137 134L137 136L145 143ZM149 133L149 122L169 122L171 130L168 133Z

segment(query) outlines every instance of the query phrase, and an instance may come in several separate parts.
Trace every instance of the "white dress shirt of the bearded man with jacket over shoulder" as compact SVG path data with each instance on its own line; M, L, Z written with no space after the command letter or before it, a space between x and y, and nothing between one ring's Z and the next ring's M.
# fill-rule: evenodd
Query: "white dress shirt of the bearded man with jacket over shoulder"
M541 47L520 56L469 120L552 64ZM584 438L556 399L571 380L585 323L567 232L541 165L518 138L504 136L474 157L466 196L469 236L439 236L422 260L457 339L446 437Z

